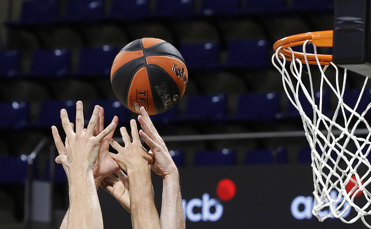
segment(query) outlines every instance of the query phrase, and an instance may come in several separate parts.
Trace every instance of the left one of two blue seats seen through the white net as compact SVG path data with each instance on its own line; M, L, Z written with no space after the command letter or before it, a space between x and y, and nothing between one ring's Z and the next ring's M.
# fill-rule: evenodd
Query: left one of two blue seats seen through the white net
M318 106L319 109L319 97L320 93L315 92L314 93L314 102ZM303 92L299 92L299 101L301 103L301 106L305 112L305 114L311 118L313 115L313 108L312 105L309 103L308 99L305 97ZM330 93L328 90L322 91L322 114L329 114L329 105L330 105ZM286 109L285 114L283 114L283 117L286 118L292 118L292 117L300 117L299 111L292 105L292 103L288 102L288 107Z

